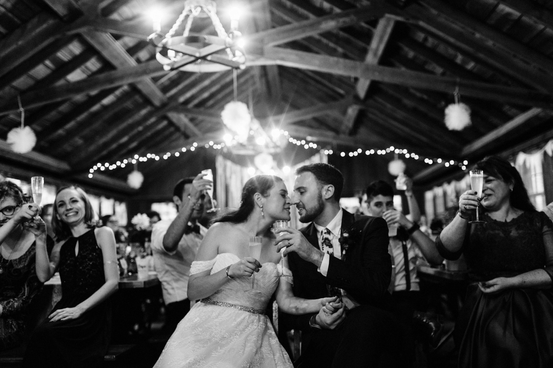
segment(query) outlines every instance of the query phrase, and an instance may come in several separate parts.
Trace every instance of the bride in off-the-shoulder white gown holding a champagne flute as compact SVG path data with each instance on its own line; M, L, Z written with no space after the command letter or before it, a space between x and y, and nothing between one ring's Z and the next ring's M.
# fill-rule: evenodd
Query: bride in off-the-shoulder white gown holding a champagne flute
M332 303L336 298L296 298L291 277L276 277L280 254L270 228L275 220L290 220L290 206L280 177L258 175L246 182L240 208L218 219L200 245L188 283L190 300L200 302L181 320L154 368L292 367L265 316L273 293L290 314L333 311L341 304ZM250 236L263 237L259 260L248 256ZM258 294L246 292L253 272ZM286 267L284 273L290 275Z

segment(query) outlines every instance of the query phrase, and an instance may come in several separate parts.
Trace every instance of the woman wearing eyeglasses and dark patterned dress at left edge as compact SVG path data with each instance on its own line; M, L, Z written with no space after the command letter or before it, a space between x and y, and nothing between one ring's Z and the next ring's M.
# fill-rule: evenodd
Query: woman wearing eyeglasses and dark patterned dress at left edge
M0 182L0 351L22 343L27 313L42 283L35 272L36 249L51 250L54 241L36 203L25 203L22 190Z

